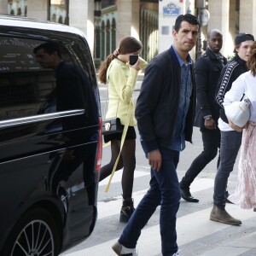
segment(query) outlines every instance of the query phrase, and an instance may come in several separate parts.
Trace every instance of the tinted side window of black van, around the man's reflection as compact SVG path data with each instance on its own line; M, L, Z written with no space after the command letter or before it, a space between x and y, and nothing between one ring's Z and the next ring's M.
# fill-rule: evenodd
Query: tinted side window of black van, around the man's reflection
M85 108L81 104L66 104L65 108L57 108L55 71L41 67L33 53L35 47L44 43L43 40L33 38L1 36L0 120ZM72 47L60 43L61 59L76 69L82 68L93 81L90 65L86 61L82 63L78 49L73 49L77 48L76 44L69 45Z

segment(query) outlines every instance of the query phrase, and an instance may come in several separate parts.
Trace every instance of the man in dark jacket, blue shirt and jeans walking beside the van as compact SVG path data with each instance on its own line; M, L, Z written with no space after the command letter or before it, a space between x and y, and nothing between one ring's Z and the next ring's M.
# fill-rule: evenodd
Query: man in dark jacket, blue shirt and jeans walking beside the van
M151 166L150 188L113 245L118 255L137 255L141 230L158 206L162 254L178 255L176 215L180 190L176 168L185 140L191 142L192 137L195 79L189 51L195 46L198 30L194 15L179 15L172 32L172 47L157 55L146 68L136 118Z

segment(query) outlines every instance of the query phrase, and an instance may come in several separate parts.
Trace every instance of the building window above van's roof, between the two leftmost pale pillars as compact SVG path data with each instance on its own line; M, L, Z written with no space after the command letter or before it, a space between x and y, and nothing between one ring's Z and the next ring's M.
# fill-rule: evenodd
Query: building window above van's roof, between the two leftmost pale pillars
M68 25L68 0L49 0L49 20Z

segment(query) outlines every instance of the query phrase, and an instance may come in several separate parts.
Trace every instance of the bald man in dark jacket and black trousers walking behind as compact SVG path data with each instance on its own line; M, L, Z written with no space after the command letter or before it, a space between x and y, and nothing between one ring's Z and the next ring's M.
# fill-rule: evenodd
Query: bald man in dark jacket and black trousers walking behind
M227 59L219 52L223 37L218 29L212 29L207 35L208 48L204 55L195 61L196 113L195 126L200 127L203 151L192 162L189 170L180 182L181 196L184 200L198 202L192 197L189 187L195 177L215 158L220 143L218 129L219 107L215 102L215 90L218 78ZM218 167L218 166L217 166Z

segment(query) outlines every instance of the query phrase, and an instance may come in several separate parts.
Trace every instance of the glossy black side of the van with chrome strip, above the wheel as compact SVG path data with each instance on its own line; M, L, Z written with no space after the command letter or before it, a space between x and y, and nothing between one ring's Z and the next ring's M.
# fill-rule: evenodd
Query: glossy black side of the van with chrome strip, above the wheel
M58 41L58 33L46 37L45 32L40 35L34 30L0 36L0 205L5 209L0 229L9 234L22 212L50 201L60 212L66 246L89 236L96 219L99 112L92 84L95 72L88 68L91 60L84 67L79 53L74 55L75 36L60 33ZM61 44L63 61L88 76L91 90L78 88L79 108L57 108L55 71L35 61L33 49L50 41ZM86 44L79 42L88 55Z

